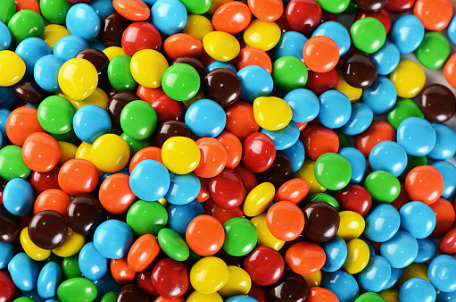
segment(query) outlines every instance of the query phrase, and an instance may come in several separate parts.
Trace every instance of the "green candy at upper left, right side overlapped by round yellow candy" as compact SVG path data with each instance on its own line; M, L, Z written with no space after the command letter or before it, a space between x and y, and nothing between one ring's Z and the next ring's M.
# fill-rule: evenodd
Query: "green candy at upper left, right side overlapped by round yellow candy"
M137 82L131 75L130 61L129 55L118 55L111 60L108 65L108 79L112 88L118 91L137 88Z

